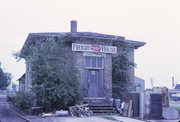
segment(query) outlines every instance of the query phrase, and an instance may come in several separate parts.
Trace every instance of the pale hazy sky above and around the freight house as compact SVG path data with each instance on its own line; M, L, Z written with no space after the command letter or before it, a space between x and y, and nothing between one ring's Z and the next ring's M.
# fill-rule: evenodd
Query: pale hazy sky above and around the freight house
M135 75L147 88L180 83L180 0L0 0L0 62L13 82L25 62L12 56L28 33L78 31L119 35L147 44L135 51Z

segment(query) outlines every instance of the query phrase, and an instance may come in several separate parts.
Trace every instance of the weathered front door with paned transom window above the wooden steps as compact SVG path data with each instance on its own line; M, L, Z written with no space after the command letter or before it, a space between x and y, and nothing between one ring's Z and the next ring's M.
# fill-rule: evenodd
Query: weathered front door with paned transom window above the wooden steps
M104 92L104 58L85 57L85 88L88 97L102 97Z

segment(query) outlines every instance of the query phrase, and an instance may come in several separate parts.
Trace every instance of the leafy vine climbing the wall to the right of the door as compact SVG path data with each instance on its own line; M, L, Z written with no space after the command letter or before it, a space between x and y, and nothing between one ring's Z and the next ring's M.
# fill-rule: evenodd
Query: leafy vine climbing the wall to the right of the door
M135 66L135 64L130 62L128 58L128 54L131 51L131 47L125 45L123 47L123 53L113 57L112 59L113 98L123 99L132 85L130 83L129 71Z

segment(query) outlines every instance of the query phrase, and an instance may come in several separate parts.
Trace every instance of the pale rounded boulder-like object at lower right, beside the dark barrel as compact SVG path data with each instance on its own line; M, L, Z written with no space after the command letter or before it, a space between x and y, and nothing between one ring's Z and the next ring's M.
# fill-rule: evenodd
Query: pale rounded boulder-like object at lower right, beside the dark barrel
M164 119L177 119L179 112L176 108L163 108L162 115Z

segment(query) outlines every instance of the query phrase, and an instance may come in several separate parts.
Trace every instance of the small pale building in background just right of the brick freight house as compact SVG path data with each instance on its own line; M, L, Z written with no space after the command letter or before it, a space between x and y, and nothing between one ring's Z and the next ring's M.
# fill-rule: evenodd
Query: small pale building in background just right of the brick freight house
M145 91L145 80L139 77L134 78L135 81L135 91L140 93Z

